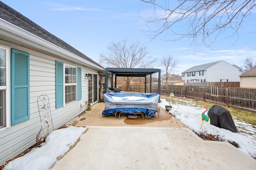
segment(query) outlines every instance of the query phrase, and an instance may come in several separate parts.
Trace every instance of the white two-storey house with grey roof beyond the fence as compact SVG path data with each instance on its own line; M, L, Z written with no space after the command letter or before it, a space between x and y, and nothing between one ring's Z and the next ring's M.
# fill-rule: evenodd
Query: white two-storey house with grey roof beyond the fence
M196 65L182 72L182 82L240 81L241 68L226 61Z

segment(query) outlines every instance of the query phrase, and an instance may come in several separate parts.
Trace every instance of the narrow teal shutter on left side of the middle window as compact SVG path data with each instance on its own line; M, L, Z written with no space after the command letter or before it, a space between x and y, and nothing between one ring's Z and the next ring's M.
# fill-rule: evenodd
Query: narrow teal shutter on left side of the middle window
M64 83L63 83L63 63L56 61L55 63L55 105L56 109L63 106L63 90L64 90Z

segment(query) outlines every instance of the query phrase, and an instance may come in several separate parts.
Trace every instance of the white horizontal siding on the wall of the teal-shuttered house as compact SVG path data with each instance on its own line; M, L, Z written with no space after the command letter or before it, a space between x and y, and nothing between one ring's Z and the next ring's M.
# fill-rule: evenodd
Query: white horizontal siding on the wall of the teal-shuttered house
M30 146L36 143L36 134L40 130L40 118L38 113L37 99L40 95L48 95L50 101L50 110L52 113L53 126L54 129L61 127L68 121L78 116L86 110L86 107L80 107L80 103L85 103L88 101L88 84L87 79L82 76L82 99L80 101L69 103L64 107L58 109L55 108L55 78L56 78L56 68L55 61L60 60L52 55L47 55L45 53L40 53L32 49L26 49L24 47L19 47L18 45L12 45L16 49L21 51L26 51L30 54L30 119L22 123L18 123L14 126L6 125L9 128L0 129L0 162L4 163L6 160L10 160L14 156L20 154ZM10 50L9 50L10 51ZM7 52L10 55L10 52ZM64 60L60 60L65 62ZM67 65L74 65L74 63L69 63L66 61ZM85 74L87 69L84 66L81 67L82 75ZM8 70L7 70L8 71ZM96 72L96 71L95 71ZM8 78L8 77L7 77ZM8 79L9 80L9 79ZM6 82L8 82L8 80ZM7 86L8 87L8 86ZM10 96L10 91L6 89L6 105L8 103ZM10 114L9 107L6 107L6 113ZM6 118L7 124L10 122L10 117ZM10 123L9 123L10 124Z

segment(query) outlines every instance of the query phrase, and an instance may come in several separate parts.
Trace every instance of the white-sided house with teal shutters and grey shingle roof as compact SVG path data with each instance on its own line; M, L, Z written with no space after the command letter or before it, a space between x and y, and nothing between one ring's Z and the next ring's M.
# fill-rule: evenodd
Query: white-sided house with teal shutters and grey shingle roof
M36 143L40 95L49 97L56 129L100 99L104 71L0 2L0 164Z

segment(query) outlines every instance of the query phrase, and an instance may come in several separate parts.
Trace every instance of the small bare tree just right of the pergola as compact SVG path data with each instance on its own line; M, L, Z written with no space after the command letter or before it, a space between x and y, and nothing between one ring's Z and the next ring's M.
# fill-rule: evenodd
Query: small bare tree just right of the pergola
M164 56L161 60L162 67L164 67L164 70L162 71L164 73L164 78L166 80L166 83L168 82L168 78L171 75L171 72L176 67L178 63L178 59L175 59L172 56Z

